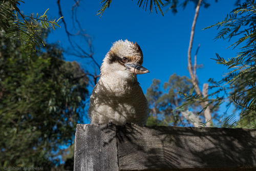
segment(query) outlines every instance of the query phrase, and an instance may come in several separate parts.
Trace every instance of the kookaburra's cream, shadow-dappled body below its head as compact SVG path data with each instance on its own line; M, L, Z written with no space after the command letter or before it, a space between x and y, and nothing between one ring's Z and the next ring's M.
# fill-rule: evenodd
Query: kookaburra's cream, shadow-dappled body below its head
M100 80L99 80L100 81ZM100 87L98 86L100 84ZM89 117L93 123L115 123L123 125L129 123L145 123L147 109L146 98L137 81L127 81L121 86L99 82L94 91L97 97L91 96ZM118 92L116 92L119 90ZM125 94L122 94L125 92ZM100 97L100 98L99 98ZM137 114L137 115L136 115ZM141 114L141 115L138 115Z

